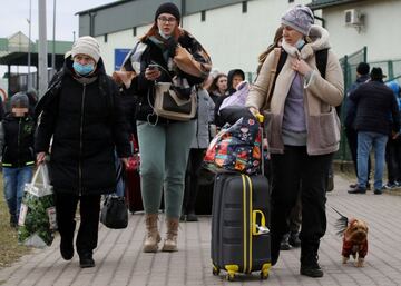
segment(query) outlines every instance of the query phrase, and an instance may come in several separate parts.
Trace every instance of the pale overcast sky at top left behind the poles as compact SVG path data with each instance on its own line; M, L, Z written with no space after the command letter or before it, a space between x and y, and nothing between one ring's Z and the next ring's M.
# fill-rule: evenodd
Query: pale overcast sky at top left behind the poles
M8 38L21 31L29 36L29 1L30 0L0 0L0 38ZM53 1L46 0L47 38L52 39ZM72 41L76 31L78 37L78 16L76 12L115 2L117 0L56 0L56 40ZM32 3L31 39L39 38L38 32L38 0Z

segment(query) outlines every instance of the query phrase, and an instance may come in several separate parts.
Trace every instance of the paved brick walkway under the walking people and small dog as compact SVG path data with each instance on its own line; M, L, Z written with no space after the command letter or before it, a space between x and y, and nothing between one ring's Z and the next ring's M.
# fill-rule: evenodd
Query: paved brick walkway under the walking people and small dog
M335 177L335 189L327 195L327 231L321 243L323 278L299 275L299 249L282 252L267 280L258 275L241 276L233 285L401 285L401 196L346 194L349 181ZM365 267L341 264L341 239L335 236L335 207L346 216L369 223L369 254ZM165 229L163 229L164 231ZM78 256L65 262L56 239L52 247L35 250L13 266L0 270L2 285L232 285L224 276L213 276L209 255L211 218L180 225L179 252L145 254L144 216L129 218L129 227L110 230L100 227L95 268L80 269Z

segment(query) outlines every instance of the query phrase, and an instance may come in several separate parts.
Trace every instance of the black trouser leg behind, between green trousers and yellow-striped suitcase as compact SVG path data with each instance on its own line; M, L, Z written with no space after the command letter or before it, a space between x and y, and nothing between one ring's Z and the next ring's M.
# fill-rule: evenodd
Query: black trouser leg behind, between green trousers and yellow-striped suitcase
M195 211L196 196L199 189L198 178L205 149L190 149L185 175L185 191L183 210L185 214Z

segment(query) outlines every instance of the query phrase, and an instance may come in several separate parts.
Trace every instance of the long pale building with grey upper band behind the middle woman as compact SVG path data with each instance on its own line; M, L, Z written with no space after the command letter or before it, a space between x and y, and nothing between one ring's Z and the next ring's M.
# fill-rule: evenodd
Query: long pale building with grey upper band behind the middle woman
M78 12L79 34L99 40L106 70L110 72L115 69L116 49L134 47L137 38L149 29L162 2L165 1L123 0ZM205 47L215 68L224 72L233 68L254 72L257 57L272 42L281 16L290 7L310 0L172 2L184 11L183 28Z

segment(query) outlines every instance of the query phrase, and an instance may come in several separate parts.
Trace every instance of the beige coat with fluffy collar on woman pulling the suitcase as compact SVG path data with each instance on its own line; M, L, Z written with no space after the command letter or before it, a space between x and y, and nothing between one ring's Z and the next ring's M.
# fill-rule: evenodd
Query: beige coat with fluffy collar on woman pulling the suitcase
M330 48L329 32L319 26L312 26L311 34L314 40L306 43L301 52L283 42L283 48L288 57L283 69L277 76L272 96L271 108L261 110L265 115L265 128L270 150L284 152L282 139L282 122L284 116L285 99L288 95L295 71L291 68L294 57L302 58L314 69L309 82L304 86L304 109L307 129L307 154L323 155L334 152L340 145L340 119L335 108L343 99L344 82L343 73L338 58L329 50L326 76L321 77L315 62L314 52ZM311 37L312 38L312 37ZM251 87L246 106L262 108L267 97L271 85L271 69L274 62L274 52L271 52L262 66L261 72Z

